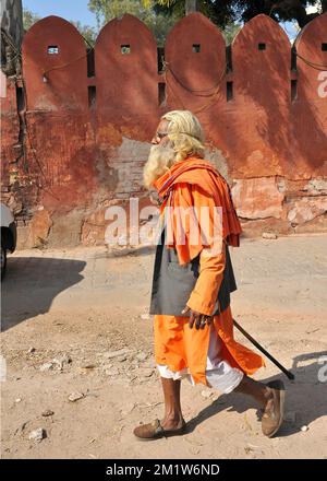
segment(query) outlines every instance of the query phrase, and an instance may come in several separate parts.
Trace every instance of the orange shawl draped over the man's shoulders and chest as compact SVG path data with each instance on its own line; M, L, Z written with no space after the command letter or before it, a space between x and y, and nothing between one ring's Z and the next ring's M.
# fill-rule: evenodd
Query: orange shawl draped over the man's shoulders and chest
M214 233L217 209L221 223L220 236L230 246L240 245L242 232L240 221L233 207L229 186L219 172L207 161L189 157L174 164L166 174L159 177L154 187L162 200L161 214L165 209L171 208L172 237L167 247L174 247L181 265L194 259L204 247L213 247L202 228L202 208L207 208L208 227ZM191 210L190 210L191 209ZM182 212L189 210L193 214L182 219ZM196 220L196 221L195 221ZM198 232L194 236L192 226L197 225ZM183 225L181 238L179 226ZM192 238L191 238L192 237Z

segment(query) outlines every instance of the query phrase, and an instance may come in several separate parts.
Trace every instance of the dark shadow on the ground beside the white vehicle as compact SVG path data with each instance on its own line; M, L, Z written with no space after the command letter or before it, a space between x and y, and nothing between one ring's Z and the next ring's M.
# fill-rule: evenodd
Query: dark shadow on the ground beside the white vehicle
M1 289L1 331L47 313L53 298L81 282L81 260L11 257Z

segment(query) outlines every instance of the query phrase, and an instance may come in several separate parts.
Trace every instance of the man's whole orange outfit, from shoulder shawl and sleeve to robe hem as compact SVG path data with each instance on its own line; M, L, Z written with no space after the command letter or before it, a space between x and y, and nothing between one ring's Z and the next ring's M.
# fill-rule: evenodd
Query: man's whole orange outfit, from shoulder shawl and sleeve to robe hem
M185 244L177 242L177 225L179 219L173 218L173 242L167 246L175 248L180 265L190 262L199 254L199 275L193 291L190 293L187 306L198 313L211 315L223 277L226 251L225 245L239 246L241 226L234 211L226 180L206 161L189 159L175 164L155 184L159 195L162 195L164 213L167 202L172 210L177 207L194 207L197 212L201 207L210 211L210 222L215 206L222 210L222 249L215 256L208 256L211 245L204 245L198 236L197 245L190 243L189 231L185 233ZM171 196L168 196L171 192ZM201 223L199 223L201 227ZM233 319L230 306L214 317L214 327L222 341L221 357L232 367L245 374L253 374L265 365L263 357L237 342L233 338ZM155 316L155 356L157 364L167 365L178 372L189 367L195 383L207 385L205 375L207 351L209 345L209 328L190 329L189 317Z

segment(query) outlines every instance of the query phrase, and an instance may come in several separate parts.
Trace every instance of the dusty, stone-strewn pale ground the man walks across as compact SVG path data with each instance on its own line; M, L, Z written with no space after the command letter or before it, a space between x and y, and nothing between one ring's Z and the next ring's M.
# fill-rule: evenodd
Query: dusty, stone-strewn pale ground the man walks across
M279 437L262 436L251 399L184 382L189 433L148 443L132 431L162 413L146 314L154 253L16 253L2 289L2 457L327 458L327 369L318 380L327 355L326 246L326 236L307 236L244 241L231 251L235 319L296 375L291 383L267 361L255 376L287 385ZM83 398L70 401L76 391ZM53 413L44 417L47 410ZM47 437L29 441L38 427Z

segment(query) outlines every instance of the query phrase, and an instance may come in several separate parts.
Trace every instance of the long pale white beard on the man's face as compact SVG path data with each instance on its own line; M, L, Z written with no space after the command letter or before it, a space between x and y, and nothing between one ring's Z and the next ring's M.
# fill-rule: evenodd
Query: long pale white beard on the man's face
M144 185L148 189L152 184L164 175L175 163L175 151L172 142L168 145L153 145L143 169Z

